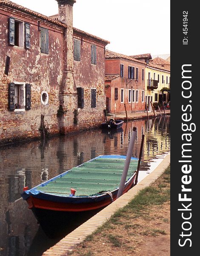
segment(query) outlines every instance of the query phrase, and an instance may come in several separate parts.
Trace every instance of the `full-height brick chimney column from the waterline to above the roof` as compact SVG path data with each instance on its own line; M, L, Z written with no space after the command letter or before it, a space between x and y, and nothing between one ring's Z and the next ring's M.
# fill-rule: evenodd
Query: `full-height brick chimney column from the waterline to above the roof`
M67 28L63 34L63 77L60 84L60 105L67 113L60 124L61 133L66 132L66 124L73 125L73 111L77 108L77 89L74 83L74 55L73 55L73 5L76 0L56 0L59 9L59 21Z

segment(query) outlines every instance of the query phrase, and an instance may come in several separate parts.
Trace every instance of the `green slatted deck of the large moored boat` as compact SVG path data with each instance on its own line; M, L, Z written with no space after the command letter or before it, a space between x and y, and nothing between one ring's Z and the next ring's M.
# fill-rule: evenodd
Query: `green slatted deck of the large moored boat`
M131 160L127 180L137 169L138 160ZM95 158L81 166L70 169L62 177L57 177L38 190L56 195L69 196L71 188L76 196L91 196L102 191L113 191L120 185L124 168L123 158Z

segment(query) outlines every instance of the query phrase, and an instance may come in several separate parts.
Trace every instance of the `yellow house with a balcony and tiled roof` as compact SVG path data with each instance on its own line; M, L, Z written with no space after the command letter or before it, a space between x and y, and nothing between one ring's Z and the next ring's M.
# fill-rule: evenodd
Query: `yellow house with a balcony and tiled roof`
M146 62L145 68L145 101L148 106L148 110L151 111L150 102L162 102L165 104L170 102L170 62L159 58L151 61L151 54L133 55L133 58ZM167 63L168 62L168 63Z

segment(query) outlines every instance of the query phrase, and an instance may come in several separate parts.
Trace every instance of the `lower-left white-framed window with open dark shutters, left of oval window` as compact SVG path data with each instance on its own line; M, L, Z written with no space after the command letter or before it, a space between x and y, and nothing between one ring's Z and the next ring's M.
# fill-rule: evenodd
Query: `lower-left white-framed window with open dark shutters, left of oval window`
M31 84L13 82L9 84L9 110L25 111L31 108Z

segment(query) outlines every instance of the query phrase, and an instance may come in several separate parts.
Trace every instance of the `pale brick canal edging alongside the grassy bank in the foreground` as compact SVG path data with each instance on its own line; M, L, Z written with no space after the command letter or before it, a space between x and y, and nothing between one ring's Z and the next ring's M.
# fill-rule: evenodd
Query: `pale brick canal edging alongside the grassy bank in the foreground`
M114 214L118 209L124 207L126 204L133 199L137 193L153 183L170 164L170 154L167 154L162 162L137 186L134 186L128 192L123 194L120 198L114 201L112 204L98 212L88 221L77 227L74 231L69 233L66 237L61 239L53 247L49 248L43 253L43 256L65 256L67 252L71 251L76 244L80 244L86 239L86 236L91 235L98 227L104 224L111 215Z

